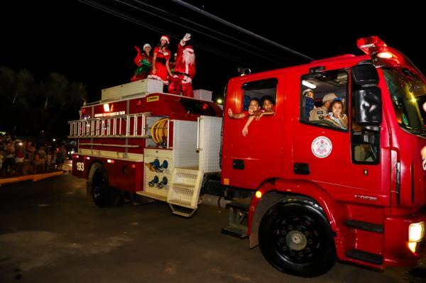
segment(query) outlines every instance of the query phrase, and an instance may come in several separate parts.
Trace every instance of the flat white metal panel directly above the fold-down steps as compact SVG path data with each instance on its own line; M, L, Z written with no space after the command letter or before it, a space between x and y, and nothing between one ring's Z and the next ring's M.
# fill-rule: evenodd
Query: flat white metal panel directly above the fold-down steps
M174 121L173 152L175 167L198 167L197 122Z

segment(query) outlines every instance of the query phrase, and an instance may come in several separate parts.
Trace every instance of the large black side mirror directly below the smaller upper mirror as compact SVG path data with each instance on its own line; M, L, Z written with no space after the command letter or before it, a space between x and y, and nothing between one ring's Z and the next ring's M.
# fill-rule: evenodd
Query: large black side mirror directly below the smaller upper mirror
M380 126L382 121L381 89L363 87L352 93L355 121L360 126Z

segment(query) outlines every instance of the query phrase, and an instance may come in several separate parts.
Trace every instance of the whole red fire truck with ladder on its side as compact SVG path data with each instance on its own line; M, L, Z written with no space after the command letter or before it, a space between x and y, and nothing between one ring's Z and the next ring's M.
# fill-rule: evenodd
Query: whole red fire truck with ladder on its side
M207 91L164 94L151 80L104 89L70 122L73 174L98 206L141 196L192 216L214 195L238 199L224 232L249 236L290 274L337 259L413 266L425 245L425 77L380 38L357 45L365 55L230 79L224 115ZM265 97L275 114L243 135L246 118L229 109Z

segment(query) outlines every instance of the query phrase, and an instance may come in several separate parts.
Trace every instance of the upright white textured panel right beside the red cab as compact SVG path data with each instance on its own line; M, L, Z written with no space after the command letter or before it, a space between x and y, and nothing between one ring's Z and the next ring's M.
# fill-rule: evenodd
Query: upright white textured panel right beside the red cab
M200 170L204 173L219 172L222 118L200 118Z

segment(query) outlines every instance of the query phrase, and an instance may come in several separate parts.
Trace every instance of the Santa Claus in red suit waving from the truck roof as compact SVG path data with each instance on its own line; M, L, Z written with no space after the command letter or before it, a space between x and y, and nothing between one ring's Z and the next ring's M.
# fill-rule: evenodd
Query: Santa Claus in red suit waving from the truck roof
M194 97L192 79L195 75L195 53L192 46L186 44L190 39L191 35L187 33L178 45L175 72L168 89L170 94Z

